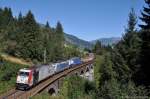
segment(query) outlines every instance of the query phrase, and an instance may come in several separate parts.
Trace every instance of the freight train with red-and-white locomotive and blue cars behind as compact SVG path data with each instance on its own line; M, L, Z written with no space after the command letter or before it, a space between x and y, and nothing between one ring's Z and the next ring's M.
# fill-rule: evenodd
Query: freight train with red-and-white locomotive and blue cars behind
M30 68L20 69L17 75L16 89L27 90L37 85L42 80L59 73L67 68L82 64L79 57L50 65L37 65Z

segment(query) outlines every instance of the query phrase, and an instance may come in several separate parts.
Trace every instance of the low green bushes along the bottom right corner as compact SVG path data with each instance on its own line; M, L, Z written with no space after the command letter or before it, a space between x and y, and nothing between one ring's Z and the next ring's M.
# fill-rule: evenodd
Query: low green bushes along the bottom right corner
M106 81L99 90L97 99L125 99L134 97L148 97L146 89L142 86L136 87L133 82L121 84L119 81L112 79Z

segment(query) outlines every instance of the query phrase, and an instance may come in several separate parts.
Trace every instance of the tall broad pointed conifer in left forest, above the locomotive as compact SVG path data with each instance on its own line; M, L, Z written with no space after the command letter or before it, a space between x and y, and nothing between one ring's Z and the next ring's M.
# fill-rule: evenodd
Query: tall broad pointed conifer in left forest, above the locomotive
M20 53L22 57L41 60L43 55L42 38L39 25L36 23L31 11L24 17L22 30L20 34Z

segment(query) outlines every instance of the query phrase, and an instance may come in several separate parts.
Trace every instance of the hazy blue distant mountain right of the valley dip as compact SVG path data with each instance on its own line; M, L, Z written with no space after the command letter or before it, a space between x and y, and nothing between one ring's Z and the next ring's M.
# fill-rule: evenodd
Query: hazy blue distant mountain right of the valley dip
M94 41L91 41L92 44L95 44L96 41L100 41L102 45L113 45L118 43L121 40L119 37L111 37L111 38L100 38Z

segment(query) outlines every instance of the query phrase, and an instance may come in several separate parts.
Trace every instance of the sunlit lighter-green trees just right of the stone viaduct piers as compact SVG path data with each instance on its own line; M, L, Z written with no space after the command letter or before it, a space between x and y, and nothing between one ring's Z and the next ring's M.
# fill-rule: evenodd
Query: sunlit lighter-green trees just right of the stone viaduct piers
M96 56L94 65L94 78L97 89L100 88L105 81L113 79L116 75L110 58L111 57L109 53L103 56Z

